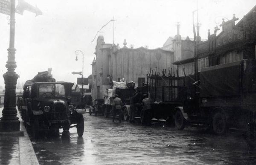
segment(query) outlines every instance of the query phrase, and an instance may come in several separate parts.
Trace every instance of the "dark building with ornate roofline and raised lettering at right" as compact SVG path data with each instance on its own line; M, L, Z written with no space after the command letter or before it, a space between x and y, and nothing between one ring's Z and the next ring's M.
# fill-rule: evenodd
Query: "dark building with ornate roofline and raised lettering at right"
M256 6L238 23L236 23L237 20L239 18L236 18L235 14L231 20L225 22L223 19L220 25L222 31L216 35L216 32L220 30L218 26L214 28L213 34L210 34L208 30L207 41L192 41L191 47L181 43L181 51L190 49L191 53L186 55L182 52L181 56L184 55L184 58L180 58L179 53L175 53L174 64L179 70L185 69L186 75L194 75L195 64L200 72L202 68L256 58ZM174 48L174 52L178 51ZM194 55L192 52L195 52ZM179 75L184 76L184 74Z

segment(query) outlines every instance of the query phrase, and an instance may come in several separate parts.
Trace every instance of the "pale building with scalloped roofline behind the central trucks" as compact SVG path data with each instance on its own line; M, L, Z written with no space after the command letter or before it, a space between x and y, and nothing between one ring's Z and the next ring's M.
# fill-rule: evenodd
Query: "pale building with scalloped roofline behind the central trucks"
M163 49L128 48L126 41L123 47L106 44L99 36L96 45L96 58L92 63L92 96L103 98L104 90L109 88L110 78L113 81L134 81L141 86L147 81L147 73L162 72L174 65L174 52Z

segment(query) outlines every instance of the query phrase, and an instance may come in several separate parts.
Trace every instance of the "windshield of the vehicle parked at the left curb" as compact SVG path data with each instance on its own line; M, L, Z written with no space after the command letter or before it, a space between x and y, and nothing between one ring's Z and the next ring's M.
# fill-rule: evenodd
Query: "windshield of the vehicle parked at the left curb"
M39 97L64 97L65 87L61 84L41 84L39 85Z

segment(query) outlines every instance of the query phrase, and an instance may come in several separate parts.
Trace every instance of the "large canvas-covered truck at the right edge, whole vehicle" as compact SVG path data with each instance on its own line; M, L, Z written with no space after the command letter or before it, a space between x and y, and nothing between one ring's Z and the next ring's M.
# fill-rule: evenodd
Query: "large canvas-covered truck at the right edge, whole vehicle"
M216 134L229 127L255 132L256 59L246 59L204 68L194 83L199 93L175 107L175 126L203 124Z

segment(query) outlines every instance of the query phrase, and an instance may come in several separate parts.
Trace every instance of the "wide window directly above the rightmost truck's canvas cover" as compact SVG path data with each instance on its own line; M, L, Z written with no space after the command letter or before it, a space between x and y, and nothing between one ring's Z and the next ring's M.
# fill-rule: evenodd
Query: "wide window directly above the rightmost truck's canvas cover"
M227 64L231 62L240 61L243 59L243 52L228 52L225 55L221 55L219 58L219 64Z

